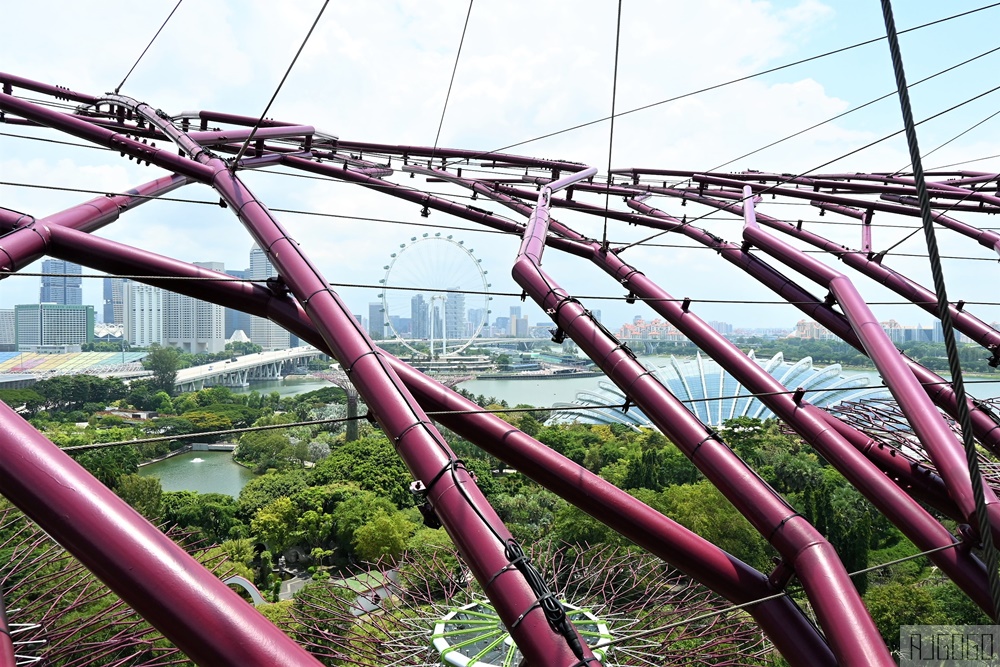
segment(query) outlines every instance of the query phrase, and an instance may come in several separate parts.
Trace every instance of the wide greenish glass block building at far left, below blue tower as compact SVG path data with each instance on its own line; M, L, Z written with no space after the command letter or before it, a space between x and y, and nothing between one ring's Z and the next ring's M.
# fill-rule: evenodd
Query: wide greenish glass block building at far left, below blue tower
M94 340L94 307L55 303L14 306L17 349L72 348Z

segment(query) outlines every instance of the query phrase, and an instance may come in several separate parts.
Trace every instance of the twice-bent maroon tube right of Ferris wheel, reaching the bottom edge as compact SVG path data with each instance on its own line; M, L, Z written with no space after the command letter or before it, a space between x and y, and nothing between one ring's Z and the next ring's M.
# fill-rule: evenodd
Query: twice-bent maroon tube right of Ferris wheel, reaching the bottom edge
M795 568L841 664L894 664L833 547L538 266L550 195L542 189L514 263L514 280Z

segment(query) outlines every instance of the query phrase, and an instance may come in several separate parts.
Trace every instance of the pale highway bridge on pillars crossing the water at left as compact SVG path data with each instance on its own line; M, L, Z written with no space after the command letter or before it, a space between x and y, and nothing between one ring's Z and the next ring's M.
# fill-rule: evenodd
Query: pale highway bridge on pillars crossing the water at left
M310 359L323 354L314 347L302 346L233 357L202 366L182 368L177 371L174 386L183 392L214 386L246 387L256 380L280 380L288 374L289 369L305 366Z

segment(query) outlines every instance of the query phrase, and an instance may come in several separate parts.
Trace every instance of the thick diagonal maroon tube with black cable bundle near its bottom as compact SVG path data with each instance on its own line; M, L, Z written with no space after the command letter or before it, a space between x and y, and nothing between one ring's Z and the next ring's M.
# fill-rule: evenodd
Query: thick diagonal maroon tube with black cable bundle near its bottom
M116 98L123 104L129 103L127 98ZM543 610L536 606L537 595L527 580L520 572L509 568L504 542L510 534L471 476L461 467L455 467L456 458L447 443L430 425L398 377L383 363L346 305L267 209L221 160L211 157L172 125L164 123L151 109L148 115L143 114L146 119L171 136L198 162L126 139L77 118L23 103L9 95L0 95L0 108L211 184L237 213L260 247L265 248L296 298L305 304L306 312L331 351L345 368L350 369L359 393L377 411L390 437L396 439L397 451L414 476L441 482L428 490L428 500L483 584L501 619L511 629L521 652L529 662L576 664L578 658L566 638L549 628ZM134 108L143 113L148 107L136 104ZM448 478L442 473L449 471L450 482L445 484ZM593 657L585 643L581 650L585 658Z

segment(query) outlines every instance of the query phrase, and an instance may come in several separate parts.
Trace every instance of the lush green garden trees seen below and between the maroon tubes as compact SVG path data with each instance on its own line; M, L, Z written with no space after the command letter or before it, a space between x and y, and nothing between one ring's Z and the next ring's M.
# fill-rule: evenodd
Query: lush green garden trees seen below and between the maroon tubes
M120 383L85 378L55 378L35 385L32 395L21 390L0 398L26 411L61 446L338 420L346 414L344 394L334 387L284 399L224 388L174 397L143 388L125 398ZM467 396L491 409L508 407ZM100 412L88 417L90 408L109 401L123 408L152 402L160 416L148 422ZM764 572L773 568L776 553L766 540L658 432L620 425L545 426L544 410L500 415L745 562ZM361 422L360 438L347 442L342 427L334 421L241 434L236 458L261 474L238 498L163 492L157 480L135 474L142 459L180 441L97 449L76 458L154 522L218 543L238 570L272 597L280 586L276 566L282 555L322 581L360 563L451 548L443 530L424 525L418 499L409 492L411 477L390 441ZM629 546L612 529L522 475L503 473L499 461L473 444L448 431L444 435L522 543ZM828 537L848 571L917 552L826 461L777 423L732 420L723 438ZM925 558L854 581L890 645L898 641L900 624L987 622Z

